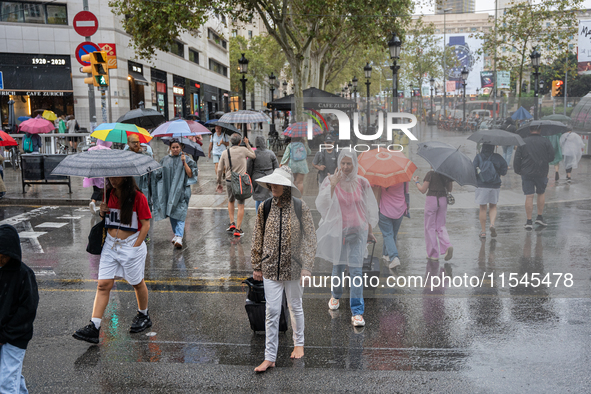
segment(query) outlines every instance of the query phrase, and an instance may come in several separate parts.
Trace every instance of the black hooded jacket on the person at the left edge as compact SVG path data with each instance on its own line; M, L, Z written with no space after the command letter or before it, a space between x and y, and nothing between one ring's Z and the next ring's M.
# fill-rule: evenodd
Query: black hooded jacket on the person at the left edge
M21 261L18 232L0 226L0 254L10 261L0 268L0 343L26 349L33 337L39 293L33 270Z

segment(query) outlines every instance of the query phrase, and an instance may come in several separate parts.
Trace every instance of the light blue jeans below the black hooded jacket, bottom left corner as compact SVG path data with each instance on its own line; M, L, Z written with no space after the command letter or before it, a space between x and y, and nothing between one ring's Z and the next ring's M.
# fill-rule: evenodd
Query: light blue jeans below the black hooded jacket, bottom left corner
M27 394L25 377L22 375L25 349L5 343L0 346L0 393Z

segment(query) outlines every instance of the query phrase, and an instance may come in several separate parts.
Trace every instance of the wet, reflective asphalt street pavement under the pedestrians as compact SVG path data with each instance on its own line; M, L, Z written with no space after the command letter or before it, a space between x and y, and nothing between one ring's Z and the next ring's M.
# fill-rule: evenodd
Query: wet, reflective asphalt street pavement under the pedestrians
M571 188L577 197L591 191L584 181ZM548 227L531 232L523 229L522 206L500 207L497 238L482 241L477 211L451 209L455 250L447 266L425 259L422 209L414 207L398 236L402 265L393 272L382 262L377 288L364 292L366 327L351 326L347 300L329 313L330 288L307 288L305 357L289 359L289 329L279 335L277 368L255 375L264 334L250 330L241 283L252 274L254 210L246 212L246 235L235 240L225 232L226 210L193 206L182 250L172 248L167 220L153 223L145 274L153 327L128 333L137 304L133 289L118 281L101 343L89 346L71 334L92 311L98 256L84 249L95 219L80 207L0 206L0 223L19 230L23 260L40 289L23 369L29 390L589 392L591 199L550 202ZM382 238L374 232L380 257ZM318 262L313 275L330 269ZM431 287L444 271L455 282ZM402 286L402 278L427 284Z

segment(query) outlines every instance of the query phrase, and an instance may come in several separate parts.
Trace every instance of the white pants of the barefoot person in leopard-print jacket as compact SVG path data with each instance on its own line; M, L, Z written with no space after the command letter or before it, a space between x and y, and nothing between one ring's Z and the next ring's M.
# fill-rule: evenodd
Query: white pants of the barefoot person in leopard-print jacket
M302 295L304 288L299 280L277 281L263 278L265 300L267 302L265 321L265 360L275 362L279 345L279 316L283 290L287 296L294 346L304 346L304 309Z

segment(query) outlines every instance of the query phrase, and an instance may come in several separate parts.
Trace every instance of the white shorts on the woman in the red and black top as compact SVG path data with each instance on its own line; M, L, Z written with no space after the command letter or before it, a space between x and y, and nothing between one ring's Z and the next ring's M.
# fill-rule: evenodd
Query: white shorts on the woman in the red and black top
M118 276L132 286L144 279L148 248L145 242L137 248L133 247L138 236L139 232L122 240L107 233L99 263L99 279L115 279Z

